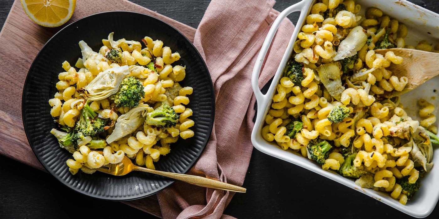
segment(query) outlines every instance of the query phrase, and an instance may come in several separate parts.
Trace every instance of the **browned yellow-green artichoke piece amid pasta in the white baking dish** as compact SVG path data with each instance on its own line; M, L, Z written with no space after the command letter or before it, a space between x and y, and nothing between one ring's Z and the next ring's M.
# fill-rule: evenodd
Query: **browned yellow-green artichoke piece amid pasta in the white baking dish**
M342 86L340 78L341 65L339 62L330 62L317 67L320 81L323 83L329 94L340 101L345 87Z

